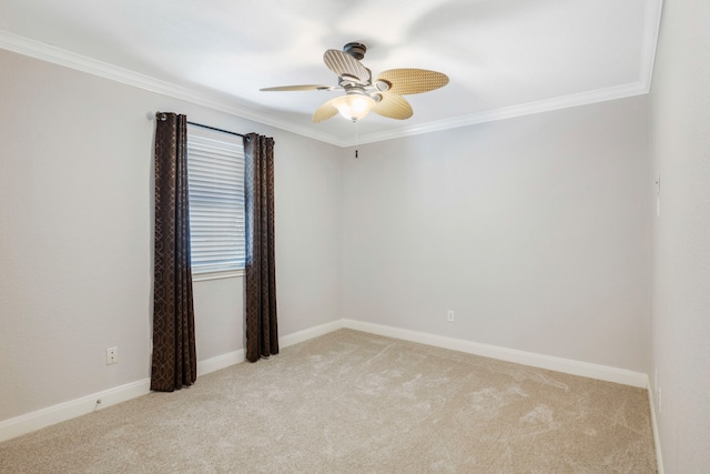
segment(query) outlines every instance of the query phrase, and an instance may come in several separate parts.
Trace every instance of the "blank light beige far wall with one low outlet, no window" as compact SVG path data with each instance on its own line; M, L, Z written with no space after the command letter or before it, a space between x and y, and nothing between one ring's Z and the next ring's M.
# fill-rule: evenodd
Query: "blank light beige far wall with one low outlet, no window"
M345 316L647 373L647 117L637 97L347 153Z

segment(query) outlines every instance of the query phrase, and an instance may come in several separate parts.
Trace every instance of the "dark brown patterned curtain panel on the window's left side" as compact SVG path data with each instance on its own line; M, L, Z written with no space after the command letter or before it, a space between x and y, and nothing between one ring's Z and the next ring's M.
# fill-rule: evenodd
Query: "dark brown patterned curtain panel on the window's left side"
M151 390L172 392L192 385L197 377L187 210L187 118L159 112L156 123Z

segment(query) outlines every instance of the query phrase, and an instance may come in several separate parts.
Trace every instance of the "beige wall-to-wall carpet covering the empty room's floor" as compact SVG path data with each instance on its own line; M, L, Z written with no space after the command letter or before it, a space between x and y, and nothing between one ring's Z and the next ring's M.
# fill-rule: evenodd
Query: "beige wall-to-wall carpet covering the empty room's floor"
M646 391L349 330L0 444L2 473L655 473Z

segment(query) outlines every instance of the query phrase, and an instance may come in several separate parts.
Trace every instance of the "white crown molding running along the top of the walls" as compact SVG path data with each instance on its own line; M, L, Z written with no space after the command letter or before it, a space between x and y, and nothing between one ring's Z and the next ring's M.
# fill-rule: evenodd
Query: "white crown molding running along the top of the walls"
M404 137L412 137L422 133L437 132L459 127L468 127L478 123L497 120L511 119L534 113L548 112L577 105L586 105L596 102L604 102L615 99L648 93L650 90L653 73L653 62L656 58L656 47L660 28L662 0L649 1L646 10L646 32L642 44L641 68L639 81L628 84L616 85L606 89L598 89L560 98L529 102L520 105L513 105L501 109L487 110L484 112L456 117L453 119L427 122L412 127L385 130L375 133L359 135L357 143L374 143L384 140L393 140ZM124 68L120 68L103 61L88 58L71 51L57 48L52 44L20 37L8 31L0 30L0 48L20 54L29 56L42 61L75 69L89 74L102 77L118 81L128 85L133 85L151 92L169 95L191 103L203 105L213 110L225 112L243 119L275 127L292 133L329 143L336 147L346 148L355 145L355 140L343 139L331 133L324 133L311 127L296 124L290 120L284 120L271 113L260 111L253 107L244 105L234 98L197 91L195 89L178 85L168 81L141 74Z

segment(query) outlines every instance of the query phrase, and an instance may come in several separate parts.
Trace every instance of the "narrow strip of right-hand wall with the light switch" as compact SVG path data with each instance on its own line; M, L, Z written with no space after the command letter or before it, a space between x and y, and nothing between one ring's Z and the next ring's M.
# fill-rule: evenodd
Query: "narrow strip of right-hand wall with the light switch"
M651 383L667 473L710 466L710 2L666 0L651 89ZM656 204L657 195L651 198ZM659 393L660 392L660 393Z

